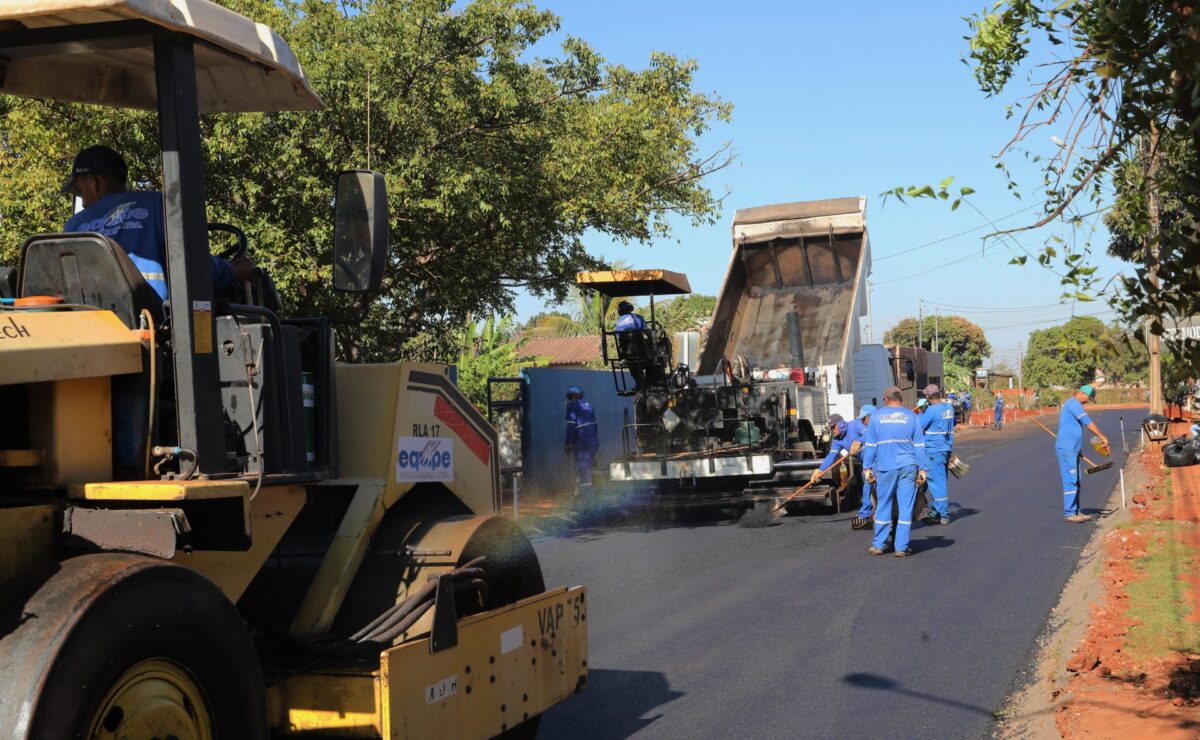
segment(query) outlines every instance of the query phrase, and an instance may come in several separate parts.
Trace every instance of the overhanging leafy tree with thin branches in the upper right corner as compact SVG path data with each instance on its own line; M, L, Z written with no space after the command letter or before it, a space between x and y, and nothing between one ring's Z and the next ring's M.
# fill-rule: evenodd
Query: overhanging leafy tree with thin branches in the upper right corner
M1061 217L1079 223L1081 211L1102 204L1106 185L1116 186L1116 252L1145 265L1108 297L1138 326L1138 336L1147 319L1150 331L1160 335L1163 317L1200 313L1200 201L1176 197L1200 192L1195 18L1192 2L1141 0L1002 0L968 18L970 59L986 95L1008 89L1021 68L1031 80L1037 76L1032 92L1009 107L1018 125L1000 163L1003 168L1004 155L1015 151L1043 168L1044 213L1025 228ZM1043 59L1031 58L1043 48ZM1031 138L1045 127L1060 136ZM1055 149L1042 152L1036 142L1044 139ZM1146 167L1147 156L1159 166ZM1164 197L1160 219L1146 198L1151 192ZM1139 241L1151 248L1144 253ZM1061 270L1067 293L1090 300L1102 287L1087 254L1086 245L1051 241L1038 261ZM1200 360L1195 342L1177 349L1188 350L1193 363Z

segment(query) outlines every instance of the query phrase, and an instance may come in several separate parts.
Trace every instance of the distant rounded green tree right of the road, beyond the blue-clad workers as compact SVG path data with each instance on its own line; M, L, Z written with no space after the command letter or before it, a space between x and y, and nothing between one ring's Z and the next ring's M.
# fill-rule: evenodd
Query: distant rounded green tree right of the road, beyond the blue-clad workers
M1079 387L1091 383L1104 332L1104 323L1094 317L1075 317L1062 326L1030 332L1025 385Z

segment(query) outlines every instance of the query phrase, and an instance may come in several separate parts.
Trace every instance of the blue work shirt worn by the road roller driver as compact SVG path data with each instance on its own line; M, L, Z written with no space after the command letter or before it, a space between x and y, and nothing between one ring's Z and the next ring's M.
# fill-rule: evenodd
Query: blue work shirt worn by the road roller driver
M158 297L167 300L167 237L162 216L162 193L138 191L109 193L67 218L65 233L95 231L121 245ZM212 257L212 287L224 289L233 282L233 267Z

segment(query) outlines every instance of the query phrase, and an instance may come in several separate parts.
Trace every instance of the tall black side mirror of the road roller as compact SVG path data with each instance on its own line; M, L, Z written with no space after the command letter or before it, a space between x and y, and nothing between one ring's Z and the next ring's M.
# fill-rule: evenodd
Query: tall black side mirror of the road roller
M383 175L349 170L337 176L334 200L334 289L373 293L388 258L388 187Z

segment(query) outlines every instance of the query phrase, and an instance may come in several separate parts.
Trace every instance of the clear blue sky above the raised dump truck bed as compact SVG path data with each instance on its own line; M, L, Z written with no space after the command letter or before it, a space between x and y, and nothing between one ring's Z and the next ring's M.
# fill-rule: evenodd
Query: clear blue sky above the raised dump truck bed
M1050 227L1018 235L1015 242L991 242L985 253L980 236L988 228L889 258L986 227L988 219L1015 227L1040 212L1033 207L1001 221L1039 198L1030 188L1024 200L1015 199L995 169L994 157L1014 131L1004 106L1026 88L1016 84L1002 100L985 98L961 62L962 17L978 11L979 2L541 0L539 6L558 13L564 32L584 38L612 62L642 67L652 50L695 58L697 88L733 103L732 122L704 142L712 149L730 140L738 156L709 180L715 192L730 191L719 222L700 228L680 222L674 239L648 248L596 235L588 242L592 253L683 271L695 291L715 294L736 209L866 195L876 342L896 320L916 314L918 299L974 320L986 331L994 357L1014 363L1032 329L1073 312L1112 319L1102 303L1058 305L1062 289L1051 272L1007 264L1021 247L1037 252L1055 230ZM1044 150L1052 133L1036 132L1031 144ZM1024 173L1024 182L1040 181L1019 158L1009 163ZM971 201L978 211L952 212L929 200L884 204L878 197L898 185L936 184L948 175L955 176L954 187L977 191ZM1103 253L1103 229L1097 234L1093 242ZM947 265L954 260L960 261ZM1106 257L1093 264L1102 276L1123 269ZM542 308L529 296L517 302L521 318Z

